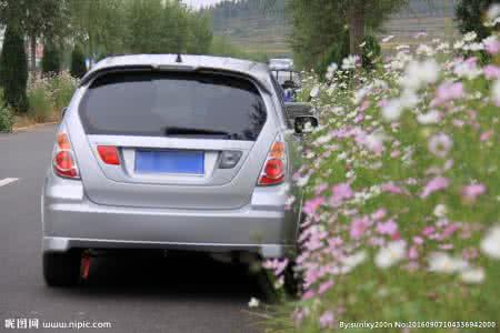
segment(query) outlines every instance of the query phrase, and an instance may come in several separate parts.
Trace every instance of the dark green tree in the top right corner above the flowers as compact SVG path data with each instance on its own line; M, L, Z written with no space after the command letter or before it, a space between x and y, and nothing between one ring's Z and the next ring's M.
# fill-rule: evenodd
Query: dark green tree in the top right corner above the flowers
M492 3L500 0L460 0L456 8L456 20L460 32L476 31L480 39L490 34L490 29L484 27L484 12Z

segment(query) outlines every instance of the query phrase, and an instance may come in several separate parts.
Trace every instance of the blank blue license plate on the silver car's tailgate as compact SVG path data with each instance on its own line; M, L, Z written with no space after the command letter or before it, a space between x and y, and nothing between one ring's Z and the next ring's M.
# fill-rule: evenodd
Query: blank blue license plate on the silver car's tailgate
M136 151L137 173L204 174L204 154L200 151Z

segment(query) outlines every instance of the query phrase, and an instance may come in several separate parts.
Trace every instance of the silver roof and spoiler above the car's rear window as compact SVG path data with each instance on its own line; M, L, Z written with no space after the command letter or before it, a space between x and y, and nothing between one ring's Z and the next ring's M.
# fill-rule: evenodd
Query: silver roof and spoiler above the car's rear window
M177 62L178 54L128 54L104 58L96 63L82 78L81 84L90 81L98 72L127 67L152 67L171 70L218 70L244 74L257 79L269 88L269 68L267 64L251 60L226 57L181 54L182 62Z

